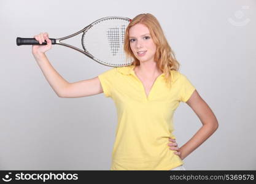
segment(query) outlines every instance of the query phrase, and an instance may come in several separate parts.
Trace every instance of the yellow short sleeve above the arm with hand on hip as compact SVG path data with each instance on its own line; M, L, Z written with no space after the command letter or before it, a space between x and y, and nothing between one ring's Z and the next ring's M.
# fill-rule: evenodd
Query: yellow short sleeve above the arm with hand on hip
M184 74L180 74L180 101L187 102L195 90L196 88L190 80Z

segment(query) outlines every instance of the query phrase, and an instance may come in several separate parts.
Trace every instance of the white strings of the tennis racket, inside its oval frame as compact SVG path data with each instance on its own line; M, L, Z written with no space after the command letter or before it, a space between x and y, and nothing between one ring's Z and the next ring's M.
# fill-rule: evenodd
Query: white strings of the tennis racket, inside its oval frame
M123 50L125 29L130 23L122 18L111 18L92 25L83 34L83 48L99 63L123 66L131 63Z

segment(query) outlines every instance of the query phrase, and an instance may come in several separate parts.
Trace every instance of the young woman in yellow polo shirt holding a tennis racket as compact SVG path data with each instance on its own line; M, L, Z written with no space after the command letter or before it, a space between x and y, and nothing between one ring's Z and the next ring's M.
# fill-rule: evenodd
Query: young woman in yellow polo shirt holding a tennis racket
M131 66L114 67L93 79L69 83L53 69L45 52L47 33L34 36L33 55L45 78L61 98L104 93L117 107L118 126L111 170L185 170L183 159L218 128L214 113L192 83L181 74L157 18L136 16L126 28L124 49ZM203 126L182 147L173 134L173 114L186 102ZM170 143L171 142L171 143ZM168 147L169 146L169 147Z

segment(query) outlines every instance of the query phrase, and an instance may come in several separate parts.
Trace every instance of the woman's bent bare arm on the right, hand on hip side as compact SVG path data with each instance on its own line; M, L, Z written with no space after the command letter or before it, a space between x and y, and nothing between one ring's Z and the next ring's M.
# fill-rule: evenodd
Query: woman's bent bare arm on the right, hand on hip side
M196 132L196 134L188 140L188 142L180 147L180 158L184 159L192 151L198 148L204 141L206 141L219 127L219 123L211 108L198 94L194 91L190 99L186 102L192 110L200 118L203 126Z

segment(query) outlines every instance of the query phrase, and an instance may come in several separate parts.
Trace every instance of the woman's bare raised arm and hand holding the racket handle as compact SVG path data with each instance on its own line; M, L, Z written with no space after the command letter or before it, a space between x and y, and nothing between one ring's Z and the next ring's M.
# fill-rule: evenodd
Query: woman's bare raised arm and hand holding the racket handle
M52 47L52 42L48 38L48 34L41 33L34 36L34 38L38 40L40 44L42 44L44 40L47 41L47 45L33 45L32 53L37 64L41 68L45 79L60 98L78 98L103 93L103 88L98 77L74 83L69 83L63 79L63 77L61 77L61 75L53 68L45 55L45 52Z

